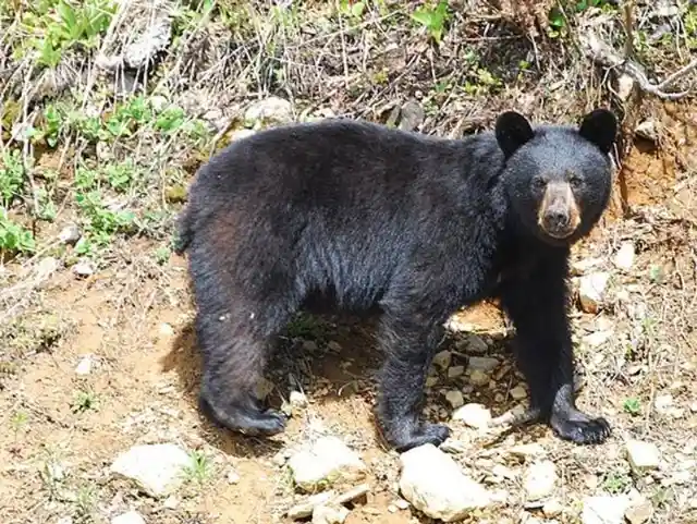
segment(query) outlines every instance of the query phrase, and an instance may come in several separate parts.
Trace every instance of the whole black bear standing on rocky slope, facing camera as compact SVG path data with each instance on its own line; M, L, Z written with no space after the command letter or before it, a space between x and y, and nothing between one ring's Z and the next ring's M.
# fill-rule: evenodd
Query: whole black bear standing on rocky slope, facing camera
M268 343L316 297L381 312L378 421L398 451L450 430L420 417L447 318L499 297L516 328L530 421L597 443L604 418L575 406L567 318L570 246L611 190L616 119L578 126L514 111L493 133L442 139L343 119L276 127L215 155L180 219L188 249L204 376L199 405L247 435L285 418L254 394Z

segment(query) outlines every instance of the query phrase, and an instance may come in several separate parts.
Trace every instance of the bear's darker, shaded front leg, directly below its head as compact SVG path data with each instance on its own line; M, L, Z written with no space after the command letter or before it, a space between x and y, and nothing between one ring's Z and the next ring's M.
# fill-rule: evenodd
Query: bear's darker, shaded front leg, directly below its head
M504 282L501 301L516 329L515 354L530 388L530 410L565 440L600 443L610 436L610 424L575 403L566 264L563 252L547 257L525 278Z

